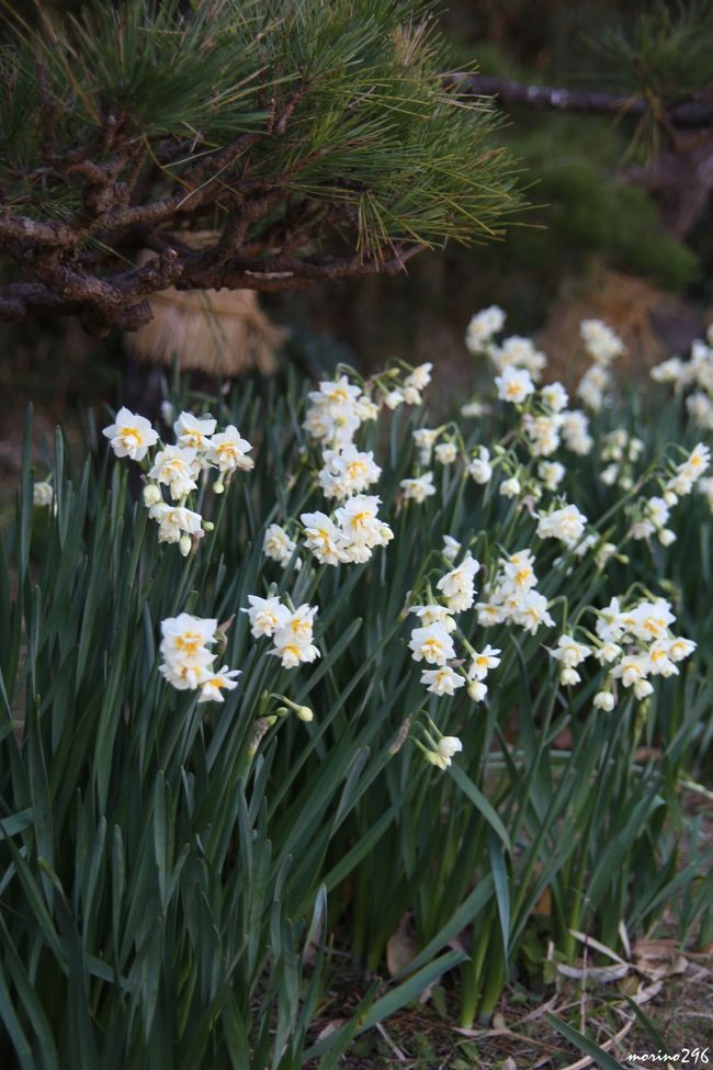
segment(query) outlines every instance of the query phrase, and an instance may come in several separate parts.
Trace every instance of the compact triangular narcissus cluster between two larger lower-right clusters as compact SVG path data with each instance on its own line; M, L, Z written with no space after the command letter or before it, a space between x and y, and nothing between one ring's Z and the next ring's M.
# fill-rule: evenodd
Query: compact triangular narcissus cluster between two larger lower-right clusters
M496 575L484 588L484 600L475 607L483 627L517 624L530 634L542 626L554 628L547 599L536 589L533 564L534 554L530 549L499 560Z

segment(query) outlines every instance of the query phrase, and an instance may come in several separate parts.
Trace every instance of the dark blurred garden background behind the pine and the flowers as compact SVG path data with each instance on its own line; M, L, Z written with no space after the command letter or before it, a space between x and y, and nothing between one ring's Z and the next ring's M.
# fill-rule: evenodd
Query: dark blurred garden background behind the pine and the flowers
M31 0L15 7L35 18ZM54 7L79 11L81 2ZM647 44L667 12L671 40ZM461 71L623 95L641 93L643 82L669 101L713 86L710 3L444 0L439 20ZM645 69L646 47L658 57L655 70ZM423 254L396 279L267 295L261 308L252 295L206 307L204 295L191 304L168 294L157 303L160 322L128 340L90 338L69 319L3 325L0 465L11 474L18 464L29 399L49 433L78 401L115 401L122 380L140 395L144 379L157 374L150 362L170 361L176 346L184 363L205 360L207 371L219 367L220 346L238 364L269 370L288 360L313 374L340 359L364 370L395 356L431 360L444 405L477 381L463 336L471 315L491 303L507 311L509 334L536 336L553 378L575 372L584 316L624 337L629 374L684 351L713 319L713 202L704 198L681 227L667 211L671 189L640 181L670 149L661 127L621 112L506 104L502 115L499 135L521 160L531 207L501 241ZM672 195L687 196L686 183L681 170Z

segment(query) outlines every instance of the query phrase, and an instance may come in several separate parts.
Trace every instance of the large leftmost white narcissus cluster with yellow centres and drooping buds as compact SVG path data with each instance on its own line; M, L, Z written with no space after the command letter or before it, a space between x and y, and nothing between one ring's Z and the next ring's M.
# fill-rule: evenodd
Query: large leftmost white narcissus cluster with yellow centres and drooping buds
M158 523L159 542L178 543L183 556L197 545L210 525L200 513L186 505L191 494L199 488L201 473L217 471L212 489L223 494L234 472L247 472L254 461L248 457L252 449L231 424L216 433L216 420L211 416L181 413L173 424L176 443L159 442L149 420L127 408L120 408L114 424L105 427L103 435L110 440L116 457L133 461L147 460L147 483L144 487L144 505L151 520ZM155 446L161 448L150 455ZM163 497L163 487L169 500Z

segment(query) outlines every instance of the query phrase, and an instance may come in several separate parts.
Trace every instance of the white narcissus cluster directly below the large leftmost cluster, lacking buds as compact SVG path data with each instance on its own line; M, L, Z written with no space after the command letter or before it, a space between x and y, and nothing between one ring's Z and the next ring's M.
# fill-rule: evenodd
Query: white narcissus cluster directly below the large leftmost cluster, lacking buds
M217 620L180 613L161 621L159 672L179 691L197 690L199 702L223 702L223 691L231 691L240 672L227 665L214 668L213 646L218 639Z

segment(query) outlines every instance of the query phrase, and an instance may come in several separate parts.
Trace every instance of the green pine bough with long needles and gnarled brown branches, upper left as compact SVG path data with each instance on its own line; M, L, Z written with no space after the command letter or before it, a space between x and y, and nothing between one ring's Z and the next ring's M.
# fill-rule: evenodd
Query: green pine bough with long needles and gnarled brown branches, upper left
M93 0L0 56L0 318L136 329L178 289L295 289L497 237L521 205L422 0ZM140 250L152 250L137 260Z

